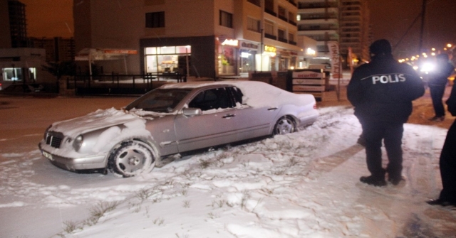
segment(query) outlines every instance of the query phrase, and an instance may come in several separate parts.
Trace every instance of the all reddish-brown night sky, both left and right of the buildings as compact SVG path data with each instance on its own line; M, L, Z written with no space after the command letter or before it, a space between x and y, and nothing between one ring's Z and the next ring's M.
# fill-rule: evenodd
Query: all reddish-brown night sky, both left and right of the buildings
M20 0L26 4L28 36L73 36L73 0ZM219 1L219 0L217 0ZM395 55L418 53L423 0L368 0L373 39L386 38ZM456 0L427 0L423 48L456 44Z

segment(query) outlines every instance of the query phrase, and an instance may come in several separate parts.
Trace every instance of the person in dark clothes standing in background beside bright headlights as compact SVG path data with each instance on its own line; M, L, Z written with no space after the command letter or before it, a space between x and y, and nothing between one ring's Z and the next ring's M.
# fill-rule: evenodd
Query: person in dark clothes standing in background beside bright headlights
M430 80L427 82L432 98L432 106L434 107L435 116L430 118L430 121L443 121L445 119L445 108L443 107L442 97L445 93L448 77L455 70L455 67L448 62L447 54L437 55L437 66L435 70L430 72Z

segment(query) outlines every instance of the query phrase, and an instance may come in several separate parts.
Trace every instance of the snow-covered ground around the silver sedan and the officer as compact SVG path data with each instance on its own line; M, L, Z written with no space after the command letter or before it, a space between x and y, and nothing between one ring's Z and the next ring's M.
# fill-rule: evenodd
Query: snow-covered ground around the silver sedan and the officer
M440 192L454 117L405 124L406 181L383 188L359 182L368 175L361 126L346 102L321 104L318 121L294 134L134 178L63 171L38 151L53 121L132 100L0 97L0 237L456 237L456 211L425 203ZM422 100L414 123L428 116Z

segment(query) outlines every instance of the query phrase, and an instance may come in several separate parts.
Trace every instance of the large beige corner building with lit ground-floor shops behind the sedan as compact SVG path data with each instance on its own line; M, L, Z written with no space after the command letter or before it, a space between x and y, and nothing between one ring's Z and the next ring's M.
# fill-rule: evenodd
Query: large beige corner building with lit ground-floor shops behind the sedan
M181 72L199 77L288 70L299 65L296 0L74 1L76 52L125 49L105 72ZM124 65L125 64L125 65Z

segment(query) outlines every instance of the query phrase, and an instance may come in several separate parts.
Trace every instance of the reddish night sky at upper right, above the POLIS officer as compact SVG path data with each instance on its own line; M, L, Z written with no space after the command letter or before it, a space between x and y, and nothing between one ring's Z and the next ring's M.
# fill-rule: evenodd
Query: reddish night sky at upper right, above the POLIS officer
M395 55L418 53L423 0L368 0L374 40L386 38ZM423 48L456 44L456 0L427 0ZM408 55L410 56L410 55Z

